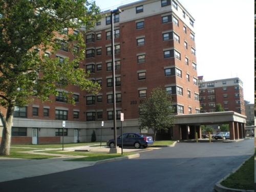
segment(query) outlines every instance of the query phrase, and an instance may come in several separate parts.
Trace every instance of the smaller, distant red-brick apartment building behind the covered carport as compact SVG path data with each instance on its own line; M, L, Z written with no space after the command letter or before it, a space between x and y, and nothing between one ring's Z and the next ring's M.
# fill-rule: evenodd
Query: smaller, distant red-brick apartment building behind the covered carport
M199 76L198 86L201 113L215 112L220 103L225 111L245 115L243 82L238 77L204 81Z

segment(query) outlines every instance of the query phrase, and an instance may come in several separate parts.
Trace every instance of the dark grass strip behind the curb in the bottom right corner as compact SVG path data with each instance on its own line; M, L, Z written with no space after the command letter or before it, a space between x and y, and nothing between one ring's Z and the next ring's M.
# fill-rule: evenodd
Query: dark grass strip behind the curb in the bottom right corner
M245 161L235 173L222 181L221 185L228 188L254 190L254 156Z

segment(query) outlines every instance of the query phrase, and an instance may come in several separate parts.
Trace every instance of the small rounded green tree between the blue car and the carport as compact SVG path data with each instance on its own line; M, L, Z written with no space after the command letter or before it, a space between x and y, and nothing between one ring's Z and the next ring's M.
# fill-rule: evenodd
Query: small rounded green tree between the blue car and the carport
M153 89L149 98L139 105L140 129L152 129L154 141L158 130L168 130L174 124L172 98L161 88Z

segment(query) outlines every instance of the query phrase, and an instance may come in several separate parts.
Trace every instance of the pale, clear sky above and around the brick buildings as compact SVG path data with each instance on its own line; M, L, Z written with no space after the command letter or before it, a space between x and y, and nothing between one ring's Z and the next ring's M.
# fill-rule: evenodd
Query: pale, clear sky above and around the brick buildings
M254 103L254 1L178 0L195 19L198 76L239 77L244 100ZM101 10L137 0L95 0Z

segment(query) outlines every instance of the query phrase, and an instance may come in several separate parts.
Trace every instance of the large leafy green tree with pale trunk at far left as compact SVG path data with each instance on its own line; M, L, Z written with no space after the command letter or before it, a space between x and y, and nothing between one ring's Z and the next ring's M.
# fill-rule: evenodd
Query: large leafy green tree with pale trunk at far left
M100 86L77 68L84 58L85 30L100 18L95 2L86 0L20 0L0 2L0 119L3 137L0 155L10 154L14 106L23 107L37 96L49 101L56 89L75 85L97 93ZM73 33L79 31L78 34ZM72 55L60 62L60 48ZM39 53L39 54L38 54ZM64 93L74 102L73 93ZM4 115L4 110L6 115Z

